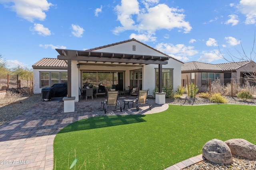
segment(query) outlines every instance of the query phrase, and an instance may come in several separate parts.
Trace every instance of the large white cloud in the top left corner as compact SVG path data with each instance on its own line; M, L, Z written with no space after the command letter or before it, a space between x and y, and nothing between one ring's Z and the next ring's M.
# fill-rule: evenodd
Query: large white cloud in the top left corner
M6 8L10 8L20 18L24 18L30 22L34 20L45 20L46 14L53 4L47 0L0 0Z

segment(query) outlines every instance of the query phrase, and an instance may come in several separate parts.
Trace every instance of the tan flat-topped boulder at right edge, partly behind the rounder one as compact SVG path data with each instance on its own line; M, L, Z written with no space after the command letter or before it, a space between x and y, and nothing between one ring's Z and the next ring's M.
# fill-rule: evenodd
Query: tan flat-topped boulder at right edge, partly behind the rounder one
M248 159L256 159L256 146L244 139L230 139L225 141L231 150L231 153L236 156L242 156Z

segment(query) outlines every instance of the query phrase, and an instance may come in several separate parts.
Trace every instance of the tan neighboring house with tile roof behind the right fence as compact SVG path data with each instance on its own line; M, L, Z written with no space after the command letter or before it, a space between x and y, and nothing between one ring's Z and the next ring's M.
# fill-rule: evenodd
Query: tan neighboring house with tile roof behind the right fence
M231 78L244 82L244 78L252 78L250 75L255 72L254 61L240 61L223 64L208 64L196 61L184 63L182 66L182 82L186 86L189 82L196 84L200 91L205 90L209 80L213 82L219 78L222 84L230 83Z

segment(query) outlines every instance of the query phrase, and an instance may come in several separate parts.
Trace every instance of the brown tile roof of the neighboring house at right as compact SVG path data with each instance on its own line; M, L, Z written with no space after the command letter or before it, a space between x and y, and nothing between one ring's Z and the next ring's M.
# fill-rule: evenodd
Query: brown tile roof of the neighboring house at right
M237 70L252 61L240 61L232 63L223 63L223 64L208 64L201 63L197 61L191 61L184 63L181 67L181 71L190 71L190 70L218 70L218 71L227 71L227 70Z

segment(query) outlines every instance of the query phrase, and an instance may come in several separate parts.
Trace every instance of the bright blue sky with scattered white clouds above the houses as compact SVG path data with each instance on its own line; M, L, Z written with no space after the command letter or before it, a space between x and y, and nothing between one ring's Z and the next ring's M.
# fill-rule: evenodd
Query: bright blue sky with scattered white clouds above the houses
M0 0L9 68L132 38L184 63L254 60L255 31L256 0Z

